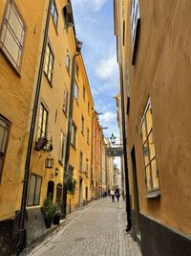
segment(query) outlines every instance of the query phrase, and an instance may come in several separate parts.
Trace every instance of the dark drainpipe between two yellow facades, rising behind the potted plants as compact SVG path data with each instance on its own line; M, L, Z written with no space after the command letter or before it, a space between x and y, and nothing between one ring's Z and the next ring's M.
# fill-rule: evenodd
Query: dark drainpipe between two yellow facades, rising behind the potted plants
M67 183L68 183L68 170L69 170L69 160L70 160L70 150L71 150L71 135L73 126L73 105L74 105L74 76L75 76L75 58L79 55L75 54L73 57L73 67L72 67L72 79L71 79L71 93L70 93L70 106L69 106L69 119L68 119L68 130L67 130L67 142L66 142L66 153L64 161L64 172L63 172L63 199L62 199L62 217L66 217L67 208Z

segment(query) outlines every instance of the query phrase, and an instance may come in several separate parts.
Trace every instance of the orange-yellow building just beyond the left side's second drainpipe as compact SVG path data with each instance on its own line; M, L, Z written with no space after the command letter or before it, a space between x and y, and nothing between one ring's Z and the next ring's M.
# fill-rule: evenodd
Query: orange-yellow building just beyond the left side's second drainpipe
M73 211L92 199L92 109L94 102L81 55L76 57L74 79L74 110L67 212ZM71 187L71 181L74 181L75 189Z

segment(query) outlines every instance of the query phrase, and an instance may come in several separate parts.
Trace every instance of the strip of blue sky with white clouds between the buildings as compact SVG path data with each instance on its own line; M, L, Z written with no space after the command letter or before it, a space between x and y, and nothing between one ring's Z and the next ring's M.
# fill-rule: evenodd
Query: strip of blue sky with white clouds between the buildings
M83 41L82 56L105 137L118 137L118 91L116 36L112 0L72 0L77 39Z

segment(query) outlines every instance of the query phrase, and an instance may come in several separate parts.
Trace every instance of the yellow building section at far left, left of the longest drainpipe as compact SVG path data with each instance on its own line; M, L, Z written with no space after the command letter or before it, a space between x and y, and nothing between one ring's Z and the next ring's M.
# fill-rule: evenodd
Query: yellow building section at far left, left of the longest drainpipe
M16 243L15 210L24 170L32 90L46 1L0 1L0 254ZM43 21L43 22L42 22ZM17 229L17 226L15 225ZM12 237L11 244L7 244ZM11 245L11 246L10 246Z

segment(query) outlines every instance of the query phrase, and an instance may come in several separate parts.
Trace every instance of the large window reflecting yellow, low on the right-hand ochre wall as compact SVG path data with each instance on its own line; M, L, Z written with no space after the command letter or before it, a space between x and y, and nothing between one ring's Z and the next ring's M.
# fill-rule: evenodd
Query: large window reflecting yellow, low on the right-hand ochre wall
M140 128L147 191L159 191L159 172L153 138L152 108L150 100L144 111Z

